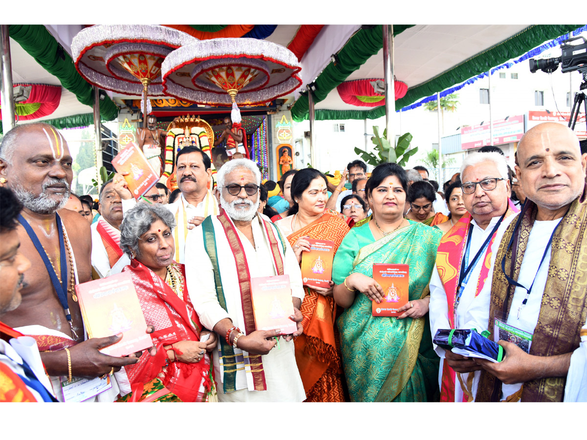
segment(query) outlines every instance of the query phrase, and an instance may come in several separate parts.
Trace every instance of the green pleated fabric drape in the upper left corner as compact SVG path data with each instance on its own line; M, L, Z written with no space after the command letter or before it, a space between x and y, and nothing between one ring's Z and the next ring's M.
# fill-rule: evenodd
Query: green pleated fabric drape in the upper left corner
M72 57L59 45L43 25L9 25L12 39L38 62L43 69L56 76L62 86L75 94L86 106L93 106L94 90L91 84L77 72ZM118 116L118 108L105 96L100 100L100 115L107 121Z

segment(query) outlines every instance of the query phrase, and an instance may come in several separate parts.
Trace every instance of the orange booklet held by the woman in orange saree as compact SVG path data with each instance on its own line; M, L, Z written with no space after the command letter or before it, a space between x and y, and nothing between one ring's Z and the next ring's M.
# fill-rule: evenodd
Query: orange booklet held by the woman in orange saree
M302 281L304 286L329 287L332 280L332 259L335 243L308 239L310 252L302 252Z

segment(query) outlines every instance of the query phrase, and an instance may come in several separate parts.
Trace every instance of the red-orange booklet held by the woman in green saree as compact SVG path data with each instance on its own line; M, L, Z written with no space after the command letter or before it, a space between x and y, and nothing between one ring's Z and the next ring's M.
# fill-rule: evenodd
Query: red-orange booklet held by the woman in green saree
M408 302L410 287L410 266L376 263L373 265L373 279L383 289L383 302L373 301L373 316L400 316L397 309Z

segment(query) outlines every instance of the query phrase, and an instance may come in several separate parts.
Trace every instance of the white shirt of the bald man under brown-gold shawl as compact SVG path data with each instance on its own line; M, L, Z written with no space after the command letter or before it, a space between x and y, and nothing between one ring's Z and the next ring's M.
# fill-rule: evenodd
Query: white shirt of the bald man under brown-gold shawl
M552 231L554 231L561 220L562 218L550 221L534 221L534 226L532 226L528 238L528 245L524 251L524 259L519 268L518 283L522 286L530 287L532 281L534 281L534 286L528 297L528 302L522 307L519 319L518 307L521 306L527 292L521 287L515 288L507 324L516 327L517 329L527 331L528 333L534 334L536 324L538 324L538 316L540 314L540 307L542 306L542 295L544 294L544 287L546 286L546 278L548 277L548 267L551 258L550 246L546 252L544 262L542 262L540 267L538 267L538 265L540 264L540 259L544 254L546 246L549 245L548 240L552 235ZM526 258L526 256L529 256L529 258ZM535 280L534 276L536 276ZM497 341L498 336L494 339ZM522 383L510 385L502 384L501 400L514 394L514 392L518 391L521 386Z

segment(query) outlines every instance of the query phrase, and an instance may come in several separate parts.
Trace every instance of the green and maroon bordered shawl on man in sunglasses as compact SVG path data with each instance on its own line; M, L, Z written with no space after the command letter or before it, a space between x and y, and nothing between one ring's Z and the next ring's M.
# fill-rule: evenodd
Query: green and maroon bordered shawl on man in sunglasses
M251 299L251 276L249 274L247 257L245 256L244 249L242 248L242 243L238 238L238 233L235 231L234 225L228 218L224 209L220 209L220 215L217 216L217 219L225 233L228 244L230 245L234 255L235 265L237 266L238 285L241 293L242 314L245 320L245 328L242 330L244 334L251 334L256 329ZM261 228L263 229L265 238L267 239L271 248L275 271L277 275L284 275L284 259L279 252L279 244L275 232L277 233L279 241L281 241L282 249L284 249L285 252L284 238L281 236L281 233L276 228L276 226L271 222L267 222L264 219L261 219L259 216L255 217L253 221L261 222ZM210 258L210 261L212 262L212 267L214 268L214 282L216 285L218 303L220 303L222 309L228 312L226 299L224 297L224 290L222 290L222 280L220 277L220 268L218 266L216 238L214 235L214 224L212 223L211 216L208 216L202 222L202 230L204 233L204 248L208 254L208 257ZM230 264L230 262L226 263ZM220 340L221 346L219 361L224 392L237 390L237 371L242 370L251 373L250 377L252 378L252 387L249 376L247 376L249 390L265 391L267 386L265 383L265 373L263 371L261 355L248 354L246 351L241 351L238 348L235 351L235 349L232 348L231 345L227 344L222 337L219 337L218 339Z

